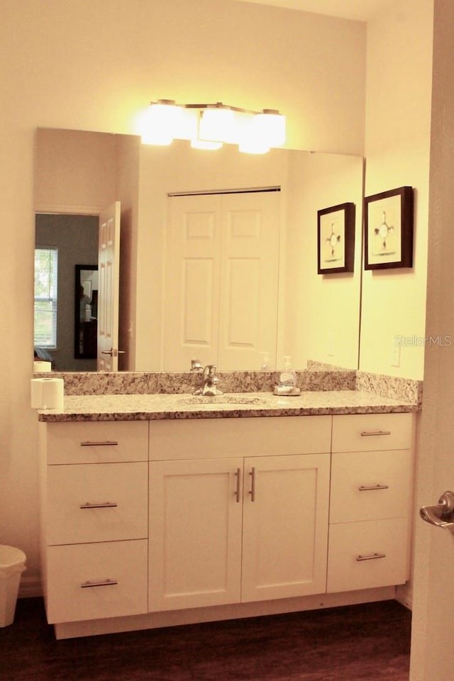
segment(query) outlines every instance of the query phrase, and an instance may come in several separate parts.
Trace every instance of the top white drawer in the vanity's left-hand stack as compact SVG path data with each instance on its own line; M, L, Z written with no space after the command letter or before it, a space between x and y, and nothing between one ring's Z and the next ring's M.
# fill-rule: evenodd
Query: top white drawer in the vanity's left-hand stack
M48 423L48 464L148 460L148 421Z

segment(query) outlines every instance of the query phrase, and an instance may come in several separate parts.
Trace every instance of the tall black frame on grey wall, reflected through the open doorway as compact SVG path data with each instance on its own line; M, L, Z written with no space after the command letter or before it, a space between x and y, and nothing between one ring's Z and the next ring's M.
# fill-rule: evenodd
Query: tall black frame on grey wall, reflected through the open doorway
M74 358L78 360L94 360L97 356L97 272L98 265L75 265Z

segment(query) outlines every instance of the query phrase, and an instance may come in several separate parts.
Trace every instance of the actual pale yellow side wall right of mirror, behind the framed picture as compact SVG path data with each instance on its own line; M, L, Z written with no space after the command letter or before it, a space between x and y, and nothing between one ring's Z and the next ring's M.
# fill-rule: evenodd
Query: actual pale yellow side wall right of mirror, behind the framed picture
M365 195L414 187L414 267L363 272L360 369L416 379L425 336L432 15L433 0L399 0L367 26ZM394 336L411 343L402 345L399 367Z

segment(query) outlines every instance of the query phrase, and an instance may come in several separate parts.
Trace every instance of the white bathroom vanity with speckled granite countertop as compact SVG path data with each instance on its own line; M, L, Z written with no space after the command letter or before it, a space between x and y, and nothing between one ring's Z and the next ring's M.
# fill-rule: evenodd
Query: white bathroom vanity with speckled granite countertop
M416 407L242 397L40 412L57 638L389 599L409 579Z

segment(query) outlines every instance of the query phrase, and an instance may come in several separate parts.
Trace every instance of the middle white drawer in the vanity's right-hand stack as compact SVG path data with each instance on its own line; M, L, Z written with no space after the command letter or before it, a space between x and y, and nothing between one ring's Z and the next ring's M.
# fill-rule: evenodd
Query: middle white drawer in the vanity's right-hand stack
M406 516L413 484L411 450L334 453L330 522Z

